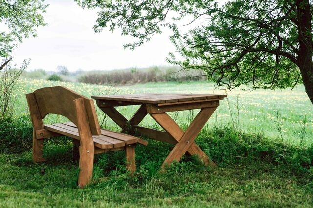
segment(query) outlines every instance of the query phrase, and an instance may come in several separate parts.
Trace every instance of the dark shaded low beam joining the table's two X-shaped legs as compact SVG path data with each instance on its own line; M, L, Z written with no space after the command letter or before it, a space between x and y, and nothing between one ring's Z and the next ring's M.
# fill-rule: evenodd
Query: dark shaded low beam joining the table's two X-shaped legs
M174 145L177 144L177 141L168 132L163 132L156 129L150 129L141 126L134 126L134 128L136 129L136 132L138 132L140 136L145 136L169 144Z

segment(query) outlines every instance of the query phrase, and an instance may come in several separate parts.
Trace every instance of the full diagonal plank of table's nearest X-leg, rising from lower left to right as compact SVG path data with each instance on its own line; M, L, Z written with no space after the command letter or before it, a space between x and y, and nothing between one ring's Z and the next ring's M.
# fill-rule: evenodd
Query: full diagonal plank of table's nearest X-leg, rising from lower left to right
M179 161L182 155L186 153L189 147L193 144L197 135L208 121L212 113L215 111L215 108L203 108L197 114L195 119L191 122L190 126L181 137L180 141L175 145L173 150L169 153L162 164L162 168L170 164L173 160Z

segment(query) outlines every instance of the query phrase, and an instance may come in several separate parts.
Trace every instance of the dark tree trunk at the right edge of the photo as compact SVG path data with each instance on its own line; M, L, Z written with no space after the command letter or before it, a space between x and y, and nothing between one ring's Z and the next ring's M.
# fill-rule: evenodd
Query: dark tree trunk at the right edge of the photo
M298 19L298 67L305 91L313 104L313 62L312 62L312 23L309 0L296 0Z

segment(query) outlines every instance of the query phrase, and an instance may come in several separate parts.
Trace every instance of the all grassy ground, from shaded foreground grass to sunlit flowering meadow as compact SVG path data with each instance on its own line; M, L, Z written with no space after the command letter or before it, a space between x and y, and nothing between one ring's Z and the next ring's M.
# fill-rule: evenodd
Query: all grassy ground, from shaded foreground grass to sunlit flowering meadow
M91 95L183 92L227 94L196 142L218 165L185 156L158 168L172 146L149 140L136 148L137 173L125 171L123 152L96 158L94 184L76 188L71 142L45 143L48 162L31 162L31 124L25 93L64 85ZM0 125L0 207L312 207L313 106L303 86L283 91L223 91L207 82L145 83L122 87L21 79L15 118ZM128 117L136 107L121 107ZM103 126L118 127L97 111ZM171 114L184 128L196 112ZM127 117L126 116L126 117ZM48 116L45 122L64 118ZM141 125L159 128L148 116ZM8 127L10 128L8 131ZM6 145L6 146L5 146ZM104 179L103 177L106 177Z

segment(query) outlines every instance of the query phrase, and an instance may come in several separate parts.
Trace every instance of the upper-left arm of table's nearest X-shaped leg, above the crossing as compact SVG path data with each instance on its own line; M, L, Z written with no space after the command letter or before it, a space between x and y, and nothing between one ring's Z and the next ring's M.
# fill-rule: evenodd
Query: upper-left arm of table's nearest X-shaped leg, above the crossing
M180 127L175 123L175 121L168 116L166 113L156 113L150 114L156 122L166 131L168 132L176 141L179 141L184 132L180 129Z

